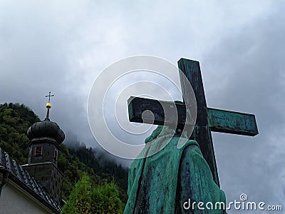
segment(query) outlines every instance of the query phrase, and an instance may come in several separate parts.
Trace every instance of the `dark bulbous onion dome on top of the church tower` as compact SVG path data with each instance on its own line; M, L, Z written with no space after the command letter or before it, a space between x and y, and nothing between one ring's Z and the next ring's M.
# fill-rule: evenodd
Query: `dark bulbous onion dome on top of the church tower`
M33 123L27 131L28 139L53 138L58 144L62 143L65 135L58 124L46 118L44 121Z

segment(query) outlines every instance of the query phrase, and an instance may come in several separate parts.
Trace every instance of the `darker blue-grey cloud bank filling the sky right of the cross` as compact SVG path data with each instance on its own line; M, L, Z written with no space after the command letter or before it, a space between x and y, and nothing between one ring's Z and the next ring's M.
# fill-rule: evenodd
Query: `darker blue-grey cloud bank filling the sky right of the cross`
M208 105L254 113L259 126L254 138L213 135L228 200L241 193L268 205L282 205L284 200L285 29L278 21L284 19L282 9L284 4L279 4L273 14L224 36L204 58L209 61L203 70Z

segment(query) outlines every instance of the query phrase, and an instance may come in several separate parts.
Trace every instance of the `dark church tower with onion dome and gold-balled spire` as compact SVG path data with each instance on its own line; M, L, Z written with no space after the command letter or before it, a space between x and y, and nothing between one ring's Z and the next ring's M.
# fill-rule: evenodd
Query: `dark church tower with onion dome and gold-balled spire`
M44 121L33 123L28 128L28 164L22 166L58 203L61 203L63 173L58 169L58 151L65 135L58 124L49 119L51 96L53 95L50 92Z

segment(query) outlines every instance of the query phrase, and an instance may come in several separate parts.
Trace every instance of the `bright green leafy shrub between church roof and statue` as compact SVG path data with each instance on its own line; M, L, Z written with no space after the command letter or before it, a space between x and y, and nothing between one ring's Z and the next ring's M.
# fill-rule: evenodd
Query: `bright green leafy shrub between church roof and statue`
M74 186L61 213L123 213L118 188L112 182L97 185L92 190L90 178L83 175Z

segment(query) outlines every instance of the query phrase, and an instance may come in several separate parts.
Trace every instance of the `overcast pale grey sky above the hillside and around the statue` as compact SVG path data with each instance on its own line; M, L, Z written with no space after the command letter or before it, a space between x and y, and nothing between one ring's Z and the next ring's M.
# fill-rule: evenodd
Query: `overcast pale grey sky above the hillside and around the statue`
M284 11L260 0L0 1L0 103L43 119L51 91L51 120L95 146L86 108L104 68L135 55L195 59L209 107L257 118L258 136L212 133L227 200L285 208Z

